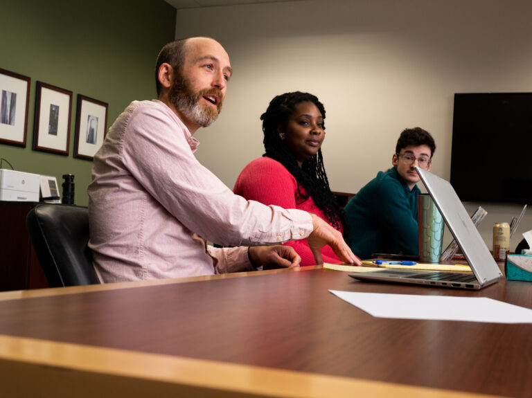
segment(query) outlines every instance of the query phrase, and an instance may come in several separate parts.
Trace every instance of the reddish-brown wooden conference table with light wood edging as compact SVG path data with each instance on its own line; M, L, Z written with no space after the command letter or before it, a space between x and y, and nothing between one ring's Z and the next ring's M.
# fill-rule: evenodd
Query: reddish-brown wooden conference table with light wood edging
M489 297L321 267L0 293L3 397L532 396L532 325L373 318L328 292Z

